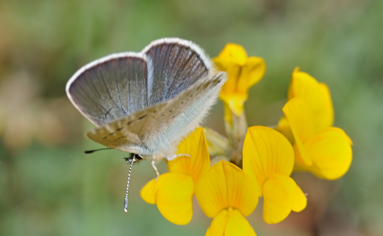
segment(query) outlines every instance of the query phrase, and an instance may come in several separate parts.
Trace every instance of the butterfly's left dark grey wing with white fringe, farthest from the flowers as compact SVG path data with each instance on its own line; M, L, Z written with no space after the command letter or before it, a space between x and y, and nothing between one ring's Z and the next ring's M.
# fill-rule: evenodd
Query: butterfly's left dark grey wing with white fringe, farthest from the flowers
M83 66L67 95L92 123L102 126L148 105L148 63L141 53L113 54Z

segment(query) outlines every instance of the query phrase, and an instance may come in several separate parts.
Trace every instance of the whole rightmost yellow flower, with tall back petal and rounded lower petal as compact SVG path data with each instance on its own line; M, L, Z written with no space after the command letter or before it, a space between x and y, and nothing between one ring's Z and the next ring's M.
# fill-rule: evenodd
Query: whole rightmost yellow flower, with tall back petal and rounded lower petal
M352 160L352 141L334 122L329 88L295 68L276 128L294 143L295 171L311 171L324 179L343 176Z

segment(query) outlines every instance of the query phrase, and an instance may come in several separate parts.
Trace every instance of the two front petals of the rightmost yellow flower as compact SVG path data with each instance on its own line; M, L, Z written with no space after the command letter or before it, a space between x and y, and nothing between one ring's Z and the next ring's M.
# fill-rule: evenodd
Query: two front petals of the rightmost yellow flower
M330 180L349 170L352 141L342 129L328 127L318 131L313 110L302 98L289 100L282 110L295 139L294 170L311 171Z

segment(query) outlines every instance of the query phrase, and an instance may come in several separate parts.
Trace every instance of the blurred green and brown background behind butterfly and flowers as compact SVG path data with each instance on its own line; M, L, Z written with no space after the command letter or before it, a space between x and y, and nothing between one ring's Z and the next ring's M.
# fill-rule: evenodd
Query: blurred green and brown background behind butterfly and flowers
M337 181L293 177L308 207L282 223L248 218L258 235L383 235L383 1L12 0L0 2L0 234L202 235L195 204L186 226L139 196L155 176L134 166L124 213L127 155L101 145L70 104L65 83L82 65L152 40L182 37L215 57L228 42L263 57L267 71L246 102L249 125L275 125L295 66L331 89L335 126L354 141ZM219 102L205 125L223 133ZM166 171L164 163L160 171ZM196 203L196 202L195 202Z

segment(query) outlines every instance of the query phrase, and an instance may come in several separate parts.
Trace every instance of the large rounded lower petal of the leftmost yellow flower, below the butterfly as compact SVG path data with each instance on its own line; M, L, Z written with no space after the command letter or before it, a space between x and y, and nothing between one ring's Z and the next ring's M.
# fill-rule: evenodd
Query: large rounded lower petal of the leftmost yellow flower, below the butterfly
M161 214L177 225L189 223L193 216L193 179L180 173L165 173L156 185L155 200Z

